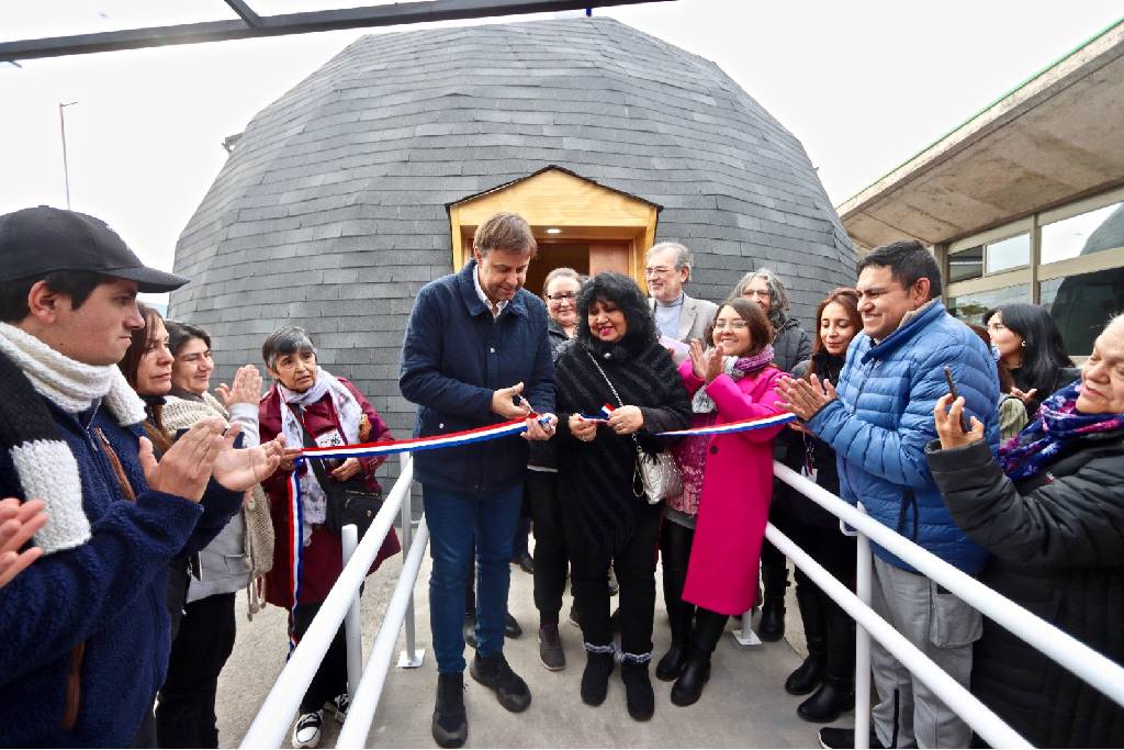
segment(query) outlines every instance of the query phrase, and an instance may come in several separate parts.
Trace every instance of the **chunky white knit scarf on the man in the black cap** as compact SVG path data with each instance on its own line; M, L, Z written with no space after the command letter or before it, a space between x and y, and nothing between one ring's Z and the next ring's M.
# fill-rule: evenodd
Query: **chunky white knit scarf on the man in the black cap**
M145 419L144 401L116 365L76 362L6 323L0 323L0 353L26 377L36 392L64 412L79 414L101 399L120 425ZM49 415L38 418L33 413L37 414L35 409L27 409L30 422L24 427L24 434L34 437L13 440L8 451L25 499L39 498L46 503L47 525L35 535L35 544L43 548L44 554L49 554L87 542L90 522L82 507L78 461L58 436L57 425L49 421Z

